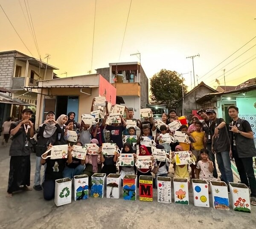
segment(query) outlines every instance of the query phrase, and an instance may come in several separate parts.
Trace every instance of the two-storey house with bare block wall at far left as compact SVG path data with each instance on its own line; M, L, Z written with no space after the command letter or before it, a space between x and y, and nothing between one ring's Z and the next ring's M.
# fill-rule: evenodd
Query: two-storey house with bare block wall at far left
M1 96L12 102L3 104L2 100L0 118L3 113L4 119L7 116L20 119L24 106L32 106L31 109L35 110L37 89L28 91L25 88L37 86L39 80L52 79L53 70L57 69L16 50L0 52L0 87L11 91Z

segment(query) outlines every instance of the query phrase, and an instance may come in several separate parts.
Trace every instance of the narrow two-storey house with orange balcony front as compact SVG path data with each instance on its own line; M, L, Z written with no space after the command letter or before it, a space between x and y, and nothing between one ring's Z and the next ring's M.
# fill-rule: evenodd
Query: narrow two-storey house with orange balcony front
M98 68L101 74L116 88L116 96L122 96L125 106L140 117L140 108L148 104L148 77L139 62L110 63L108 68Z

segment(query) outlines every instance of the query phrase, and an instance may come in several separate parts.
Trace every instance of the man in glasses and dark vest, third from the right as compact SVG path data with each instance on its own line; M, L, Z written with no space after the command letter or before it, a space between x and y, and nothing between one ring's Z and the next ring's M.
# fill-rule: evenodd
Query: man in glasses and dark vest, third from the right
M207 150L209 151L209 159L213 163L214 169L213 169L212 173L213 173L213 177L218 178L216 164L215 164L215 155L214 155L214 153L212 153L212 136L210 134L210 126L212 124L212 120L209 119L209 117L207 116L207 114L205 112L206 112L206 110L200 109L197 111L197 114L200 115L202 119L204 119L204 121L202 122L202 129L204 131L204 138L207 143L206 147L207 147Z

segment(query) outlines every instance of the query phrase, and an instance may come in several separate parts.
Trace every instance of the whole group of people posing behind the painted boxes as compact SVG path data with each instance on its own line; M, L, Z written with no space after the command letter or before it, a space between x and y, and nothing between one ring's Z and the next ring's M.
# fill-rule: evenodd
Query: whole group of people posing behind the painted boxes
M93 99L95 102L95 99ZM91 111L93 111L93 102ZM96 172L110 173L119 172L121 178L125 175L137 174L137 181L140 175L152 175L155 179L158 176L168 176L170 164L173 164L173 176L186 178L188 185L190 178L203 179L206 181L216 181L221 179L227 186L233 182L233 172L231 169L231 158L234 158L239 172L241 183L250 188L251 204L256 205L256 179L253 171L253 157L256 156L256 148L253 141L253 131L249 122L239 118L239 108L230 105L228 113L232 122L228 125L222 118L217 118L213 109L200 109L198 116L192 117L192 124L180 124L177 131L181 131L188 136L188 142L164 143L162 136L166 134L173 138L175 131L168 128L172 122L180 122L175 110L170 110L169 114L163 113L162 125L157 126L157 121L152 117L143 120L134 119L133 110L125 107L126 117L120 115L121 123L109 123L107 118L108 102L105 105L105 116L99 119L96 124L84 124L83 121L76 122L76 114L70 112L62 114L56 119L55 113L50 111L46 115L44 123L35 130L34 124L29 120L32 110L26 108L22 111L22 119L18 122L4 123L4 141L8 141L11 135L10 146L10 171L8 182L8 197L12 197L13 192L20 189L32 190L30 186L30 153L33 145L36 154L35 181L33 188L37 191L43 189L44 199L54 198L55 180L60 178L73 178L75 175L87 174L90 177ZM126 128L127 120L136 120L137 128ZM10 122L10 120L7 120ZM140 129L137 136L137 145L124 143L124 136L136 136L136 130ZM8 131L7 131L8 129ZM78 140L69 140L69 131L75 131ZM35 134L36 133L36 134ZM155 134L154 134L155 133ZM153 136L154 134L154 136ZM145 146L145 138L152 139L157 149L167 151L166 161L156 161L152 155L152 147ZM34 142L35 140L35 142ZM102 143L113 142L119 148L119 153L115 155L103 155ZM72 157L73 145L84 146L85 144L97 144L99 153L96 155L86 155L84 160ZM42 157L47 150L54 145L68 144L67 158L51 159ZM189 174L188 164L178 164L175 152L188 151L191 161L191 173ZM152 166L148 169L134 166L122 166L117 168L116 161L120 153L133 154L134 161L137 156L151 156ZM50 151L49 153L50 154ZM221 176L218 177L215 158ZM177 163L177 164L176 164ZM43 166L43 172L42 170ZM41 173L43 178L41 179ZM171 174L170 174L171 175ZM228 186L229 187L229 186Z

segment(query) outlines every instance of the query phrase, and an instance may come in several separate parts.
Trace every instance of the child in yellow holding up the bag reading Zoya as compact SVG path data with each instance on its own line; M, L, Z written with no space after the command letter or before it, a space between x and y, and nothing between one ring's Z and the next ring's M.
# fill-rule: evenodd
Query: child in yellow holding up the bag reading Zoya
M180 152L180 151L184 151L183 148L180 145L177 145L175 147L176 152ZM194 161L196 161L195 156L192 154L191 151L189 151L190 153L190 157L192 157L194 159ZM175 154L172 153L172 164L175 163ZM174 177L178 177L178 178L186 178L188 180L188 187L189 187L189 183L190 183L190 177L189 177L189 171L188 171L188 167L186 164L183 165L177 165L175 166L175 173L174 173Z

